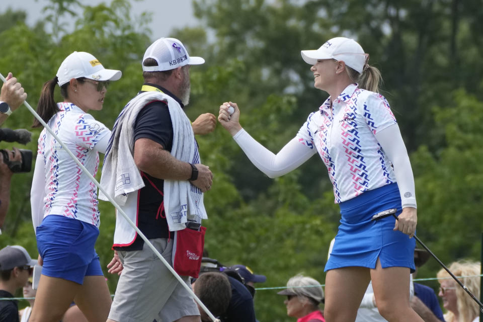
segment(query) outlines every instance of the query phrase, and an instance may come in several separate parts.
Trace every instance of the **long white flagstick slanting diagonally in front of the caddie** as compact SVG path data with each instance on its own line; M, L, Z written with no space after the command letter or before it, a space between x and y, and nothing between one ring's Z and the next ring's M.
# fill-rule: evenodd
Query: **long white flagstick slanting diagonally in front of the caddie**
M2 78L2 81L5 83L7 82L7 79L5 79L4 75L0 73L0 78ZM35 112L35 110L30 106L30 104L27 102L27 100L24 101L24 105L27 107L27 109L35 116L35 118L44 126L44 128L57 140L57 142L62 146L62 148L69 154L69 156L75 161L75 163L81 167L83 173L85 173L89 179L92 180L92 182L99 188L102 193L107 196L109 201L112 203L112 205L117 209L117 211L124 217L124 219L127 220L127 222L136 230L136 232L139 234L139 236L144 240L144 243L151 249L151 251L156 254L156 256L165 264L165 266L170 270L171 273L176 277L176 279L180 282L181 285L191 294L191 296L195 299L195 301L200 305L200 307L208 314L208 316L213 320L213 322L219 322L219 319L217 319L211 312L206 308L205 304L201 302L201 300L196 296L196 294L193 292L193 290L186 285L185 281L180 277L178 273L171 267L171 265L164 259L164 257L154 248L154 246L151 244L149 239L139 230L138 227L132 222L131 219L126 215L126 213L121 209L121 207L114 201L114 199L107 194L107 192L101 187L99 182L97 182L96 178L91 175L91 173L83 166L83 164L72 154L72 152L64 145L64 143L60 140L60 138L52 131L52 129L42 120L42 118Z

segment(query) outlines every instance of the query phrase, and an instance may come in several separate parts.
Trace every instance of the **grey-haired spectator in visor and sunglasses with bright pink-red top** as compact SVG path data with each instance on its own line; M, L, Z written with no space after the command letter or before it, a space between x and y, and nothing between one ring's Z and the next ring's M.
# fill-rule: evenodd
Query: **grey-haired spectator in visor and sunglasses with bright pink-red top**
M277 294L287 296L283 302L287 306L287 315L297 317L297 322L325 322L319 308L324 302L324 290L313 278L295 275L288 280L287 289Z

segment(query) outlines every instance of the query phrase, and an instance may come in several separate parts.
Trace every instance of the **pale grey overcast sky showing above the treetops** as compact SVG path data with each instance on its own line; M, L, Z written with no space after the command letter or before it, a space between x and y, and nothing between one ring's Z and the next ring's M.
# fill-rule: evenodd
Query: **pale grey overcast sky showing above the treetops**
M110 4L111 0L81 0L81 2L95 6L102 2ZM42 9L48 3L47 0L0 0L0 12L4 12L9 7L22 9L27 12L27 24L33 25L44 16ZM197 25L198 22L194 21L191 3L192 0L131 1L134 16L150 11L153 13L153 18L158 18L153 19L150 25L152 40L160 37L169 37L173 28ZM159 19L159 17L162 17L162 19Z

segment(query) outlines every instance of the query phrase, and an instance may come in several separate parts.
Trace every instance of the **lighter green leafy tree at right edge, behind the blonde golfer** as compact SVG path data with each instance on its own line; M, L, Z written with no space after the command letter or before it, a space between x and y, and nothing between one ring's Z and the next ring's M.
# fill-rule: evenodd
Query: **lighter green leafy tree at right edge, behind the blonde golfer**
M421 209L418 235L443 263L478 260L483 231L479 219L483 207L483 127L478 117L483 102L458 90L449 106L432 109L435 126L445 133L446 146L434 155L422 145L412 155ZM433 261L423 269L435 271L439 267Z

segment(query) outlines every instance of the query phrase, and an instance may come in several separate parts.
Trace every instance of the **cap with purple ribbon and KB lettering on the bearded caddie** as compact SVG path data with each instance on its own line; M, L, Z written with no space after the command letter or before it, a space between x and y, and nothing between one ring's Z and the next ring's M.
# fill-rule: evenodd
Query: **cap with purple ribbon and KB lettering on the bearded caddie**
M146 49L142 61L146 58L154 59L157 66L142 65L142 71L164 71L205 62L201 57L190 57L183 43L176 38L159 38Z

